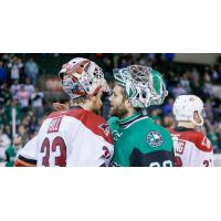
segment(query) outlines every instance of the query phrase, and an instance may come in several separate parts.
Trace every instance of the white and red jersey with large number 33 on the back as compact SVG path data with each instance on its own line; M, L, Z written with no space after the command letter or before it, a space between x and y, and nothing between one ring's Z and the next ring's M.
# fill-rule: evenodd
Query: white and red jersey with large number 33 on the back
M114 154L106 120L81 107L52 113L21 150L17 166L108 166Z

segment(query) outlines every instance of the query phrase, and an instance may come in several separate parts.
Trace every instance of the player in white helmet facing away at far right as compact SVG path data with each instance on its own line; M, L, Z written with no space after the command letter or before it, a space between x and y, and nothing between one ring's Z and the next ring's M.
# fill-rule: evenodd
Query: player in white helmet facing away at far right
M180 95L173 104L173 115L178 123L170 129L173 137L177 167L212 166L212 145L196 128L203 125L203 103L194 95Z

